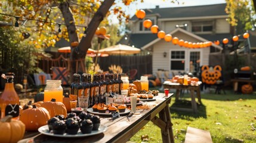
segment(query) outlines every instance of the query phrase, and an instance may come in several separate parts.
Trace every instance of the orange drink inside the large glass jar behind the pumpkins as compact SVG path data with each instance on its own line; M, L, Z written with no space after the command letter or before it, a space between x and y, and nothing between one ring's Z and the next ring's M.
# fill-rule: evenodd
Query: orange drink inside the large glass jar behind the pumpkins
M63 91L44 91L44 102L51 101L52 98L56 102L63 102Z

